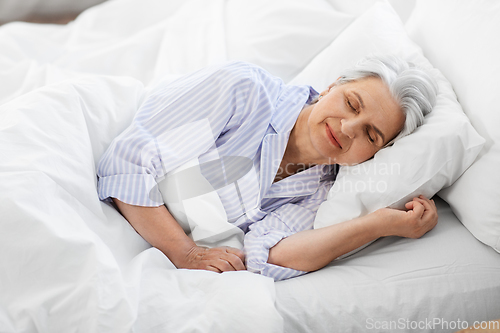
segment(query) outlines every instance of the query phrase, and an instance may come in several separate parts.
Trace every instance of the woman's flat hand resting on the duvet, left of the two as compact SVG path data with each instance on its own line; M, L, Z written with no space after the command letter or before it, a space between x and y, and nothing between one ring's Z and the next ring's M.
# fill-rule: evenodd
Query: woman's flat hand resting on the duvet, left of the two
M243 251L223 246L204 248L193 246L180 263L174 263L177 268L204 269L217 273L245 270L245 255Z

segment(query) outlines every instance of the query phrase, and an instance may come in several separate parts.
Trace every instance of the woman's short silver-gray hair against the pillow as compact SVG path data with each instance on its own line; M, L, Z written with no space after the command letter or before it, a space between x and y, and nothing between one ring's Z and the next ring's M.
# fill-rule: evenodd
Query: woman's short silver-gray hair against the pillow
M341 73L336 84L366 77L382 79L405 115L403 128L385 147L422 125L424 116L436 104L438 85L434 77L423 68L394 55L368 56Z

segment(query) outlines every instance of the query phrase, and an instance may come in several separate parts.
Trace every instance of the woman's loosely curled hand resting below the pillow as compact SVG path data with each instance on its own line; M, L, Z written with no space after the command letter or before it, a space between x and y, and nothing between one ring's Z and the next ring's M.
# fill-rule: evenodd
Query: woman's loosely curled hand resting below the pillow
M436 226L438 214L434 200L421 195L405 207L407 211L383 208L376 212L382 215L384 236L420 238Z

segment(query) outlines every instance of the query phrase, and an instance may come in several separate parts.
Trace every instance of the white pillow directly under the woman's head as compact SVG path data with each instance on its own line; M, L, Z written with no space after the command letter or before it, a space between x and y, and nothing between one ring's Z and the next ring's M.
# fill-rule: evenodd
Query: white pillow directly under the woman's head
M343 68L372 53L393 53L431 70L438 79L437 104L412 135L365 163L341 167L315 228L350 220L382 207L404 208L414 196L432 197L451 185L479 153L484 140L471 126L448 81L432 69L387 2L374 4L319 54L293 83L322 90Z

